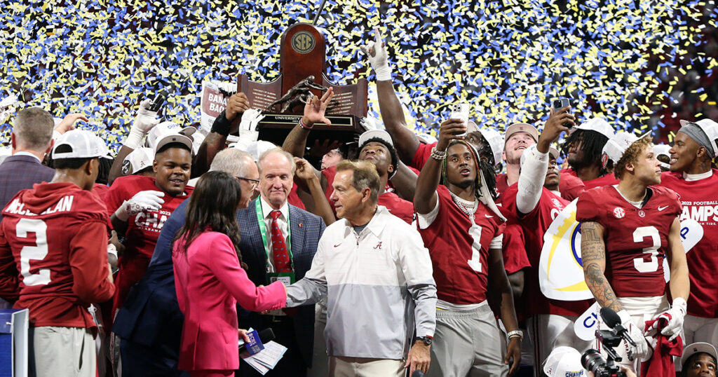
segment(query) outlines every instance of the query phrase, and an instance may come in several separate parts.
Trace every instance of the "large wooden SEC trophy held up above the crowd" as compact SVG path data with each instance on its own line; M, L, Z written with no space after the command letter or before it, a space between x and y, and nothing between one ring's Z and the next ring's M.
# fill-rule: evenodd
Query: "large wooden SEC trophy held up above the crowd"
M368 111L368 82L361 78L351 85L336 85L325 75L326 41L313 24L299 23L286 29L281 36L279 78L271 83L258 83L240 75L237 90L246 94L251 108L259 108L264 119L259 122L259 138L281 143L304 112L309 93L322 96L334 88L334 97L327 106L332 122L314 124L307 145L315 139L355 141L365 131L360 119Z

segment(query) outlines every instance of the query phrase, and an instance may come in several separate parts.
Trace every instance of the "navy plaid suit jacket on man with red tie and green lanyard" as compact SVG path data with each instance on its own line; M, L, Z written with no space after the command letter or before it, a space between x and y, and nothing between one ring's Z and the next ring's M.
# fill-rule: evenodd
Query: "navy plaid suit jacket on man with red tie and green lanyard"
M237 223L241 236L239 249L242 252L242 261L248 266L249 279L256 285L266 285L267 255L264 251L261 233L259 233L256 200L249 203L247 208L237 211ZM312 267L314 253L317 252L319 239L327 225L319 216L312 215L312 213L291 204L289 205L289 224L292 234L294 274L299 280ZM261 328L262 321L259 316L258 313L250 313L245 317L240 317L239 327ZM299 307L297 314L294 315L294 334L299 342L301 348L299 352L302 353L302 358L307 366L311 366L314 351L314 305Z

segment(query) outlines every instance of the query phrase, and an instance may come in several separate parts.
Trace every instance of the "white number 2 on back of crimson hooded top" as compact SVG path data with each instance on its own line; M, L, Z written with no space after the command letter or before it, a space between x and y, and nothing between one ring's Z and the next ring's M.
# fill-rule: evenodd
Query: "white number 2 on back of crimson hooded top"
M20 251L20 274L26 286L50 283L50 269L39 269L30 274L30 260L42 261L47 256L47 225L42 220L22 218L17 222L18 238L27 238L27 233L35 233L35 246L23 246Z

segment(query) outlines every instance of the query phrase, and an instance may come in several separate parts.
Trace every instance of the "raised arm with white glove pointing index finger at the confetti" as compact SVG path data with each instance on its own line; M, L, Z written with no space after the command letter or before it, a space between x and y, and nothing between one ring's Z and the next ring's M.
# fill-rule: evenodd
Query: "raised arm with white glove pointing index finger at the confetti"
M411 164L416 149L419 148L419 139L416 134L406 128L404 109L401 108L393 83L391 82L391 68L388 64L386 44L381 39L378 29L374 29L376 42L369 42L361 50L367 55L371 67L376 73L376 90L379 101L379 112L386 131L391 136L399 159L405 164Z

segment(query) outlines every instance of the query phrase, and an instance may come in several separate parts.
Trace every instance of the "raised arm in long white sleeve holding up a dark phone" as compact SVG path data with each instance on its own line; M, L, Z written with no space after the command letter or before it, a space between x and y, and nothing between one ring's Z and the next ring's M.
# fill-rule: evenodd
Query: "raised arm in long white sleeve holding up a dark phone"
M521 167L521 174L518 176L518 193L516 194L518 215L531 213L536 208L538 200L541 199L546 172L549 169L551 143L559 139L561 132L568 131L563 124L574 125L574 116L568 113L570 109L570 106L567 106L554 113L554 109L551 108L551 116L546 121L544 131L541 131L536 148L529 147L523 151L526 157Z

